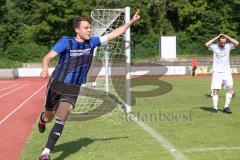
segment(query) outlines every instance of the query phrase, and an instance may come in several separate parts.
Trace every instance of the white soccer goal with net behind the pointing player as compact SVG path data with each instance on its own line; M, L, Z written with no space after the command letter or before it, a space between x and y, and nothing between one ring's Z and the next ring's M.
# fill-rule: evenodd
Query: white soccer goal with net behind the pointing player
M91 12L93 36L110 33L130 21L130 8ZM117 39L95 48L87 83L81 87L70 120L88 120L116 108L130 111L130 29Z

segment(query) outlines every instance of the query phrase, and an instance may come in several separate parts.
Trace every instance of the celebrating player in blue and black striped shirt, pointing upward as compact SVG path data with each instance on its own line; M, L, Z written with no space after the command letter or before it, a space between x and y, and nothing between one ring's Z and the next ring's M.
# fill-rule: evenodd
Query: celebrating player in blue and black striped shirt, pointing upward
M51 159L49 153L60 137L65 121L75 106L80 86L86 83L94 48L117 38L139 19L138 10L128 23L111 33L102 37L91 37L90 20L79 17L73 22L76 36L63 36L52 50L44 56L41 71L41 77L43 78L48 77L49 61L56 56L60 56L60 58L48 83L45 111L41 113L38 123L39 132L43 133L45 131L45 124L51 122L54 116L56 122L39 160Z

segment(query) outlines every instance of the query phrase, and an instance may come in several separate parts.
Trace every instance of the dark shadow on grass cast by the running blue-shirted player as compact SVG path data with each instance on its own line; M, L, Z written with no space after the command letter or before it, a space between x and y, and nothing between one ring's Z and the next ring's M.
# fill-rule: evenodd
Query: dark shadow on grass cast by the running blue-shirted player
M75 141L59 144L54 147L53 153L62 152L62 154L57 158L54 158L54 160L66 159L71 154L79 152L83 147L87 147L88 145L96 141L110 141L110 140L116 140L116 139L122 139L122 138L128 138L128 137L112 137L112 138L100 138L100 139L80 138Z

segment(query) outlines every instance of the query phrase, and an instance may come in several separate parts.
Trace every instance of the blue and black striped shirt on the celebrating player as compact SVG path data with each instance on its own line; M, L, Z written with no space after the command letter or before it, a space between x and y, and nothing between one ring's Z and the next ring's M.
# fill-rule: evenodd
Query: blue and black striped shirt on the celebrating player
M91 37L88 41L78 42L75 37L63 36L52 48L60 55L52 77L65 84L86 83L93 50L99 45L101 45L99 37Z

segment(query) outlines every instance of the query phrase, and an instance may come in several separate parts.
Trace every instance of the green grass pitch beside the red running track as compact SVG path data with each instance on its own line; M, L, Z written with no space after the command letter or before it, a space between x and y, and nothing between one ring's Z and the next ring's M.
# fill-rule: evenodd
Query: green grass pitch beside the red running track
M161 134L189 160L238 160L240 157L240 78L234 78L236 97L231 101L233 114L212 113L211 78L163 78L173 86L171 92L136 99L133 113ZM143 85L134 91L149 91ZM219 110L225 103L225 90L219 96ZM161 117L161 116L162 117ZM164 118L165 115L166 117ZM168 116L168 118L167 118ZM37 159L44 147L46 133L35 125L19 159ZM115 109L89 121L69 121L55 149L54 160L174 160L161 143L139 125Z

